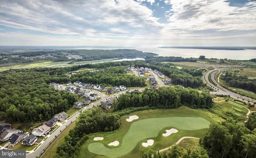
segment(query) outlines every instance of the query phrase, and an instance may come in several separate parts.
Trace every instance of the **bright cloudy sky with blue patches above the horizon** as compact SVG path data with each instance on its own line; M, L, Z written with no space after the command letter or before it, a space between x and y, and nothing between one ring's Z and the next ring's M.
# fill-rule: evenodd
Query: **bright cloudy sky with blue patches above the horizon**
M256 0L0 0L0 45L256 46Z

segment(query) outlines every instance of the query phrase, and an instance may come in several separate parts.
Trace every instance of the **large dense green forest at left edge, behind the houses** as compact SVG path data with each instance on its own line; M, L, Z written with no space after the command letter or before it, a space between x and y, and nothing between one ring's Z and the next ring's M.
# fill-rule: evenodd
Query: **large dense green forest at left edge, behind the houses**
M15 69L0 73L0 111L9 121L37 122L67 111L77 95L57 91L48 84L47 71Z

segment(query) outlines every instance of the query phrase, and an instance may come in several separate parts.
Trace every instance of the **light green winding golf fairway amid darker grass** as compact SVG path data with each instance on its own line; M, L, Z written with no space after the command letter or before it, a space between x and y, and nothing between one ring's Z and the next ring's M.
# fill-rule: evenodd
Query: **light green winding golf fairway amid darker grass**
M209 128L209 125L208 120L199 117L164 117L138 120L131 124L129 131L122 139L122 146L107 148L107 144L94 142L88 145L88 150L94 154L117 158L132 151L140 140L158 136L159 131L163 128L172 126L182 130L198 130ZM113 134L114 140L115 134Z

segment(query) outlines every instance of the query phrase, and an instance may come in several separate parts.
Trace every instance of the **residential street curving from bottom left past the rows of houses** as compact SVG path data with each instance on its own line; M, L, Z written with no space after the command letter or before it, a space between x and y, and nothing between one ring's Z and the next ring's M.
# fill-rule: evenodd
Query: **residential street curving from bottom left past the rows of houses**
M145 88L137 88L139 91L144 90ZM133 91L134 89L130 89L130 91ZM104 95L99 91L94 91L94 93L96 93L97 95L100 95L100 97L102 97L101 100L98 100L90 105L88 105L87 107L84 107L82 109L82 111L86 111L88 109L92 109L94 106L97 106L98 104L100 104L100 101L106 101L106 99L109 99L111 97L117 96L119 94L122 93L126 93L126 91L120 91L118 93L114 93L112 95ZM32 151L29 154L26 154L26 158L36 158L36 156L40 155L40 153L43 151L44 148L46 148L46 146L52 141L54 140L55 136L57 136L58 134L60 134L60 130L64 130L64 128L66 128L66 125L68 126L68 124L71 123L71 121L73 122L74 120L76 120L80 115L80 112L76 113L75 115L73 115L70 119L66 120L60 127L58 127L57 130L55 130L52 134L48 135L48 138L45 141L42 141L41 145L36 149L36 151Z

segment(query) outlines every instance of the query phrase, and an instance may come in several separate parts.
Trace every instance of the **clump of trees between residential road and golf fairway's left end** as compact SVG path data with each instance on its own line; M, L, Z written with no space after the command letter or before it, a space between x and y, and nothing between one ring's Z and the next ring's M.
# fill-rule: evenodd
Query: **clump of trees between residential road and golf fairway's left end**
M87 134L94 132L111 132L121 126L120 115L109 113L100 115L101 108L81 113L76 126L72 128L65 141L57 146L57 158L77 158L80 146L88 139Z

